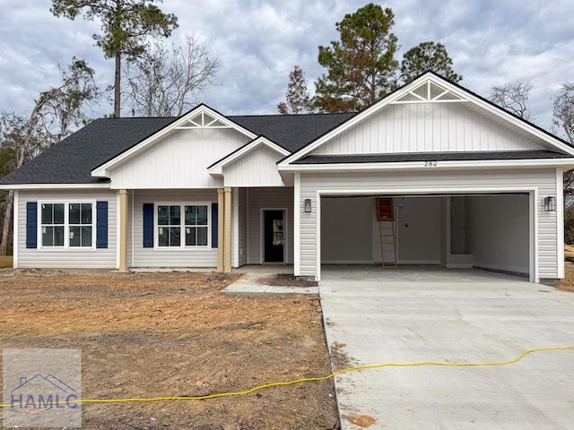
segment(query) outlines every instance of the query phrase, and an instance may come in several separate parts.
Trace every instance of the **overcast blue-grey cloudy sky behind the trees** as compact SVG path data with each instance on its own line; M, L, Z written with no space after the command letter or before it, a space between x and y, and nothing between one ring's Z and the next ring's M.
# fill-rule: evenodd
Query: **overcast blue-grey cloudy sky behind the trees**
M324 69L317 47L337 39L335 22L365 0L164 0L164 12L178 16L170 41L196 35L218 56L217 86L198 101L224 115L274 114L295 64L309 87ZM552 97L561 82L574 81L572 0L393 0L393 28L404 51L425 40L446 45L464 87L488 97L491 85L527 79L534 84L534 122L552 126ZM57 64L86 59L104 87L113 82L91 35L97 22L56 18L50 0L0 0L0 110L26 115L40 90L57 85ZM94 116L113 110L97 107ZM126 109L127 110L127 109ZM123 115L128 115L127 111Z

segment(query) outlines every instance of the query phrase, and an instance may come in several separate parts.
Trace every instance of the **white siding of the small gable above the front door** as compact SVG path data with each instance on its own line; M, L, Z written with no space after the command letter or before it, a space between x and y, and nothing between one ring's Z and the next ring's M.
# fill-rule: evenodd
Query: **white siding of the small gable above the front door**
M225 186L284 186L276 163L283 155L259 146L223 168Z

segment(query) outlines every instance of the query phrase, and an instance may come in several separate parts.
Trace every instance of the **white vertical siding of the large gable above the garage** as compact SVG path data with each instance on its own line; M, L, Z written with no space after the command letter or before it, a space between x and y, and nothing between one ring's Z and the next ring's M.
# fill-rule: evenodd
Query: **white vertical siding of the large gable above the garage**
M390 105L311 154L540 150L547 146L493 123L464 103L416 103Z

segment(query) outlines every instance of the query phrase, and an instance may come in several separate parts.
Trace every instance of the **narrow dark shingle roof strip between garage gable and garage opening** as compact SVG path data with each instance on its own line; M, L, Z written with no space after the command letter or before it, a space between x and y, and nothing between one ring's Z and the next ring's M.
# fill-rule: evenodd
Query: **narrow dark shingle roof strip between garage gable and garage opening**
M361 155L309 155L293 164L396 163L401 161L471 161L479 159L572 159L554 150L499 150L489 152L396 152Z

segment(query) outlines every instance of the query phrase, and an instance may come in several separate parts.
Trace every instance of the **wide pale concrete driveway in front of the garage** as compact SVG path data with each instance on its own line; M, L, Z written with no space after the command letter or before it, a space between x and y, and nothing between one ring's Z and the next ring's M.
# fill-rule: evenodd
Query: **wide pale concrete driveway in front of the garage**
M574 345L574 293L485 271L327 267L319 294L335 368ZM335 386L344 429L574 428L574 350L363 370Z

